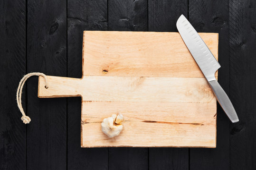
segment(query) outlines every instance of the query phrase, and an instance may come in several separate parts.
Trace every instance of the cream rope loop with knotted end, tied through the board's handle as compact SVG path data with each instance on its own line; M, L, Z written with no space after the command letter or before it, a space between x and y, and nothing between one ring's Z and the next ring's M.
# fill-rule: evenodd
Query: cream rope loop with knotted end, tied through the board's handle
M18 105L18 108L22 114L22 117L21 117L21 120L23 121L23 123L27 124L31 121L31 119L25 114L23 108L22 108L22 104L21 104L21 94L22 94L22 88L25 84L25 82L28 80L29 77L31 76L43 76L45 78L45 82L46 82L46 85L45 85L45 88L48 88L48 81L47 81L47 77L45 74L43 73L38 73L38 72L35 72L35 73L28 73L26 74L25 76L23 76L23 78L20 80L19 82L19 86L18 86L18 90L17 90L17 93L16 93L16 100L17 100L17 105Z

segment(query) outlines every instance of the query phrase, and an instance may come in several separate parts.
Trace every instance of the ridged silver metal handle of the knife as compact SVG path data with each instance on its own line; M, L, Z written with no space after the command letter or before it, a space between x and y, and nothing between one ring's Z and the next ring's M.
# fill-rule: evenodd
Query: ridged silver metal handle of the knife
M228 95L225 93L225 91L222 89L222 87L218 84L217 80L209 81L209 84L215 93L215 96L222 107L222 109L227 114L228 118L231 120L232 123L236 123L239 121L237 117L237 112L234 109L233 104L228 98Z

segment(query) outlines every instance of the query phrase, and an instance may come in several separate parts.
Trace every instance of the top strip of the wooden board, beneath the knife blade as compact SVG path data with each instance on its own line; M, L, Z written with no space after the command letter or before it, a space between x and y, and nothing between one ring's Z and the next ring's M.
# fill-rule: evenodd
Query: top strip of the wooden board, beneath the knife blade
M218 34L200 36L218 59ZM83 75L204 77L179 33L85 31L84 41Z

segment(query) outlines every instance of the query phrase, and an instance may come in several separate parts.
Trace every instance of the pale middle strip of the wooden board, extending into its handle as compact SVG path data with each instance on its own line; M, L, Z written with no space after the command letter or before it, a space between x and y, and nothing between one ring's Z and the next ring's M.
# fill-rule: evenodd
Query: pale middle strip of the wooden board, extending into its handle
M39 78L38 97L81 96L83 101L216 103L205 78L84 76Z

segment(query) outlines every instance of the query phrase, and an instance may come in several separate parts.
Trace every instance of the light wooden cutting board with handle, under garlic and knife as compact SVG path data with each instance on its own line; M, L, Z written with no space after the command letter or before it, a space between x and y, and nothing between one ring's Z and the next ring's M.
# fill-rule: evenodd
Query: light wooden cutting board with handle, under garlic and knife
M218 59L218 34L200 36ZM81 147L216 147L216 98L179 33L85 31L82 71L38 82L41 98L81 96ZM113 113L125 122L109 138Z

